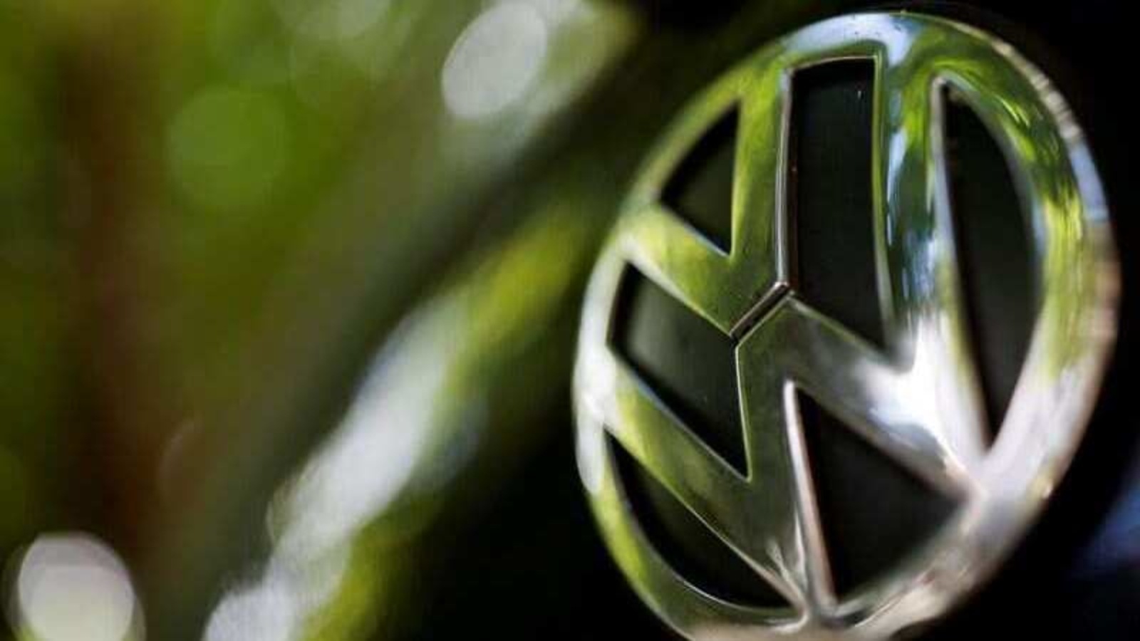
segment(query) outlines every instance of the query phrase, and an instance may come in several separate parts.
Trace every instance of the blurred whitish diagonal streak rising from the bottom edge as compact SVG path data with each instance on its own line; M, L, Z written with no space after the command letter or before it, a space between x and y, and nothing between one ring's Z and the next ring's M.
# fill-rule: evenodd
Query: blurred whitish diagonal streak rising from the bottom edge
M405 493L430 492L461 466L455 456L473 449L482 414L465 404L473 416L461 422L462 438L440 443L440 427L455 423L445 399L465 323L457 302L429 305L389 339L344 420L275 501L272 554L255 582L223 597L207 641L296 639L341 585L360 530Z

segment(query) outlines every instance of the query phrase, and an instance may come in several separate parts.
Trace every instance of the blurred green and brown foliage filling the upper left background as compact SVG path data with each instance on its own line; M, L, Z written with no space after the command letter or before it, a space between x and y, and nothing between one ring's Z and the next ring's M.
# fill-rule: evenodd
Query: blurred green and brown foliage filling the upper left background
M6 550L98 532L157 635L201 620L246 549L215 537L263 536L247 506L335 413L325 375L358 367L336 346L431 286L630 33L622 10L527 7L538 80L465 119L440 73L483 2L0 3Z

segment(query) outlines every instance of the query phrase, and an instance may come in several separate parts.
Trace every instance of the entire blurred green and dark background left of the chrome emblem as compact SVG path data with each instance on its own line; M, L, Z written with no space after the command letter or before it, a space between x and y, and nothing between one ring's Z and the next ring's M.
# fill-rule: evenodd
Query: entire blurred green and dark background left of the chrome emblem
M580 606L580 287L675 108L831 5L0 0L9 634L646 616Z

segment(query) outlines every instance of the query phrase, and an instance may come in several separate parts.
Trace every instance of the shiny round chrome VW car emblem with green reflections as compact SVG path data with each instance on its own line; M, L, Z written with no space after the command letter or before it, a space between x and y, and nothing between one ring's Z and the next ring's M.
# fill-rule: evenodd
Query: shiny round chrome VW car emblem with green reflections
M861 58L876 70L872 192L885 346L797 293L785 214L792 74ZM987 436L945 168L944 89L1007 156L1032 229L1039 305L1001 429ZM686 152L739 109L731 243L674 212L662 189ZM611 347L636 269L733 341L747 473L683 424ZM1090 152L1060 95L1009 44L907 13L828 19L765 47L693 102L651 154L587 292L575 408L596 520L641 598L693 639L877 639L928 622L990 577L1041 513L1096 403L1115 339L1117 267ZM797 390L952 496L954 510L881 576L837 593ZM787 602L701 590L634 517L622 448ZM868 496L868 501L874 501Z

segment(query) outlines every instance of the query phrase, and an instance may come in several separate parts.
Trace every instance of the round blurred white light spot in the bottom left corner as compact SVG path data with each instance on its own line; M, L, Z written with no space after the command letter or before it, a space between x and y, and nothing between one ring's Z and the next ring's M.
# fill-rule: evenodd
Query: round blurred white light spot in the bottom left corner
M87 534L46 535L24 553L9 616L42 641L142 638L142 614L119 555Z

